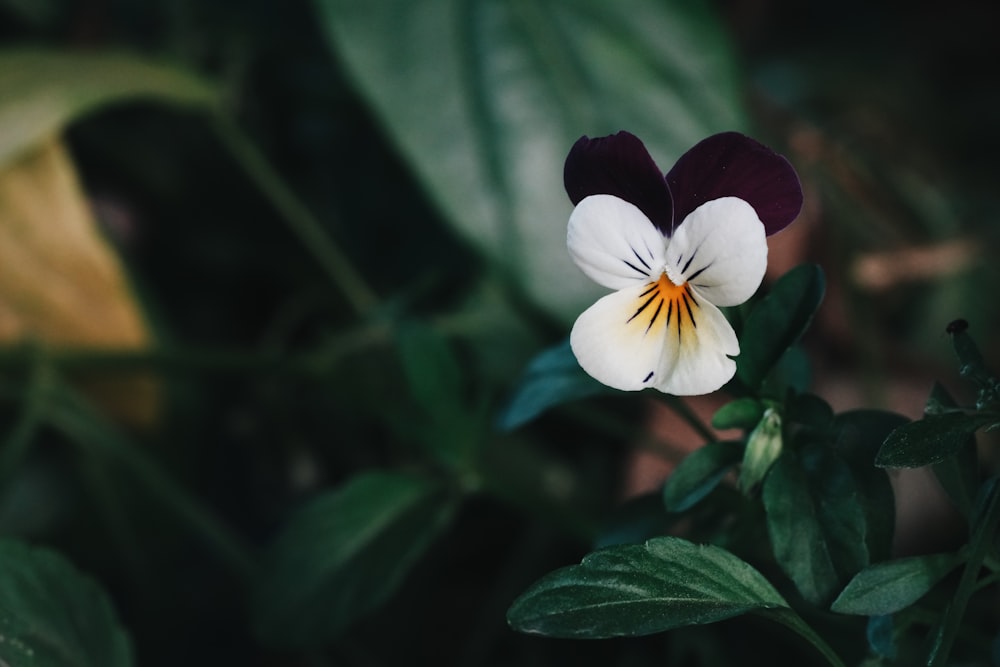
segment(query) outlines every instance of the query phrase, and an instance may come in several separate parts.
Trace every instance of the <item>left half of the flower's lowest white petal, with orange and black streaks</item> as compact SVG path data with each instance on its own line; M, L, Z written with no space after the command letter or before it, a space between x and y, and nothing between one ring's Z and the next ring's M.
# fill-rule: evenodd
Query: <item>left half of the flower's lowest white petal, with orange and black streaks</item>
M644 389L674 365L677 341L667 335L667 306L657 299L655 286L647 282L609 294L577 318L570 347L599 382L624 391ZM672 317L676 320L676 313Z

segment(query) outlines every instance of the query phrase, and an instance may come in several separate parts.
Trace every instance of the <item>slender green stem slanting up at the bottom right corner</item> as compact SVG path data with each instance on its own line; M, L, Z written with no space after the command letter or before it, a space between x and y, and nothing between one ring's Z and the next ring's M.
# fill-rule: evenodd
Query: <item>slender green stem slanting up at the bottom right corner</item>
M962 577L958 581L958 587L945 609L941 625L932 640L930 654L927 657L928 667L944 667L948 664L951 648L962 626L965 609L977 589L979 572L993 547L997 524L1000 523L1000 480L994 478L988 484L983 510L979 515L981 518L977 522L969 545L969 557L965 562Z

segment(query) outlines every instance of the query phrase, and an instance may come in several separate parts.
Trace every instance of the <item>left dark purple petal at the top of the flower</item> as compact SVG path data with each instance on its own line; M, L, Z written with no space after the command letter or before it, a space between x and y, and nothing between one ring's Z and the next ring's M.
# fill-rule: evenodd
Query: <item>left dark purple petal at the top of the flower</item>
M671 230L670 189L634 134L580 137L566 157L563 181L574 206L590 195L614 195L637 206L660 231Z

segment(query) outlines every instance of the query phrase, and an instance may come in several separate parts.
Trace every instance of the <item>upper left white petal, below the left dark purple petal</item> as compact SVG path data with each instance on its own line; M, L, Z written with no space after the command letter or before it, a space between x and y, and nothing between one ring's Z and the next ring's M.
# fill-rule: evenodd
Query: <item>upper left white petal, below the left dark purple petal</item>
M566 245L592 280L622 289L659 277L663 234L633 204L612 195L585 197L569 216Z

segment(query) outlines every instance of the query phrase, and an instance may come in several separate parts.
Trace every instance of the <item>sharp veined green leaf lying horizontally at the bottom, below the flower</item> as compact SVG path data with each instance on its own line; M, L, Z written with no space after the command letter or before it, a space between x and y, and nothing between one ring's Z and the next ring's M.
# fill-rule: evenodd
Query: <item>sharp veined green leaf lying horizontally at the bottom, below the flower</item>
M661 537L550 573L514 601L507 621L520 632L599 639L786 607L763 575L728 551Z

